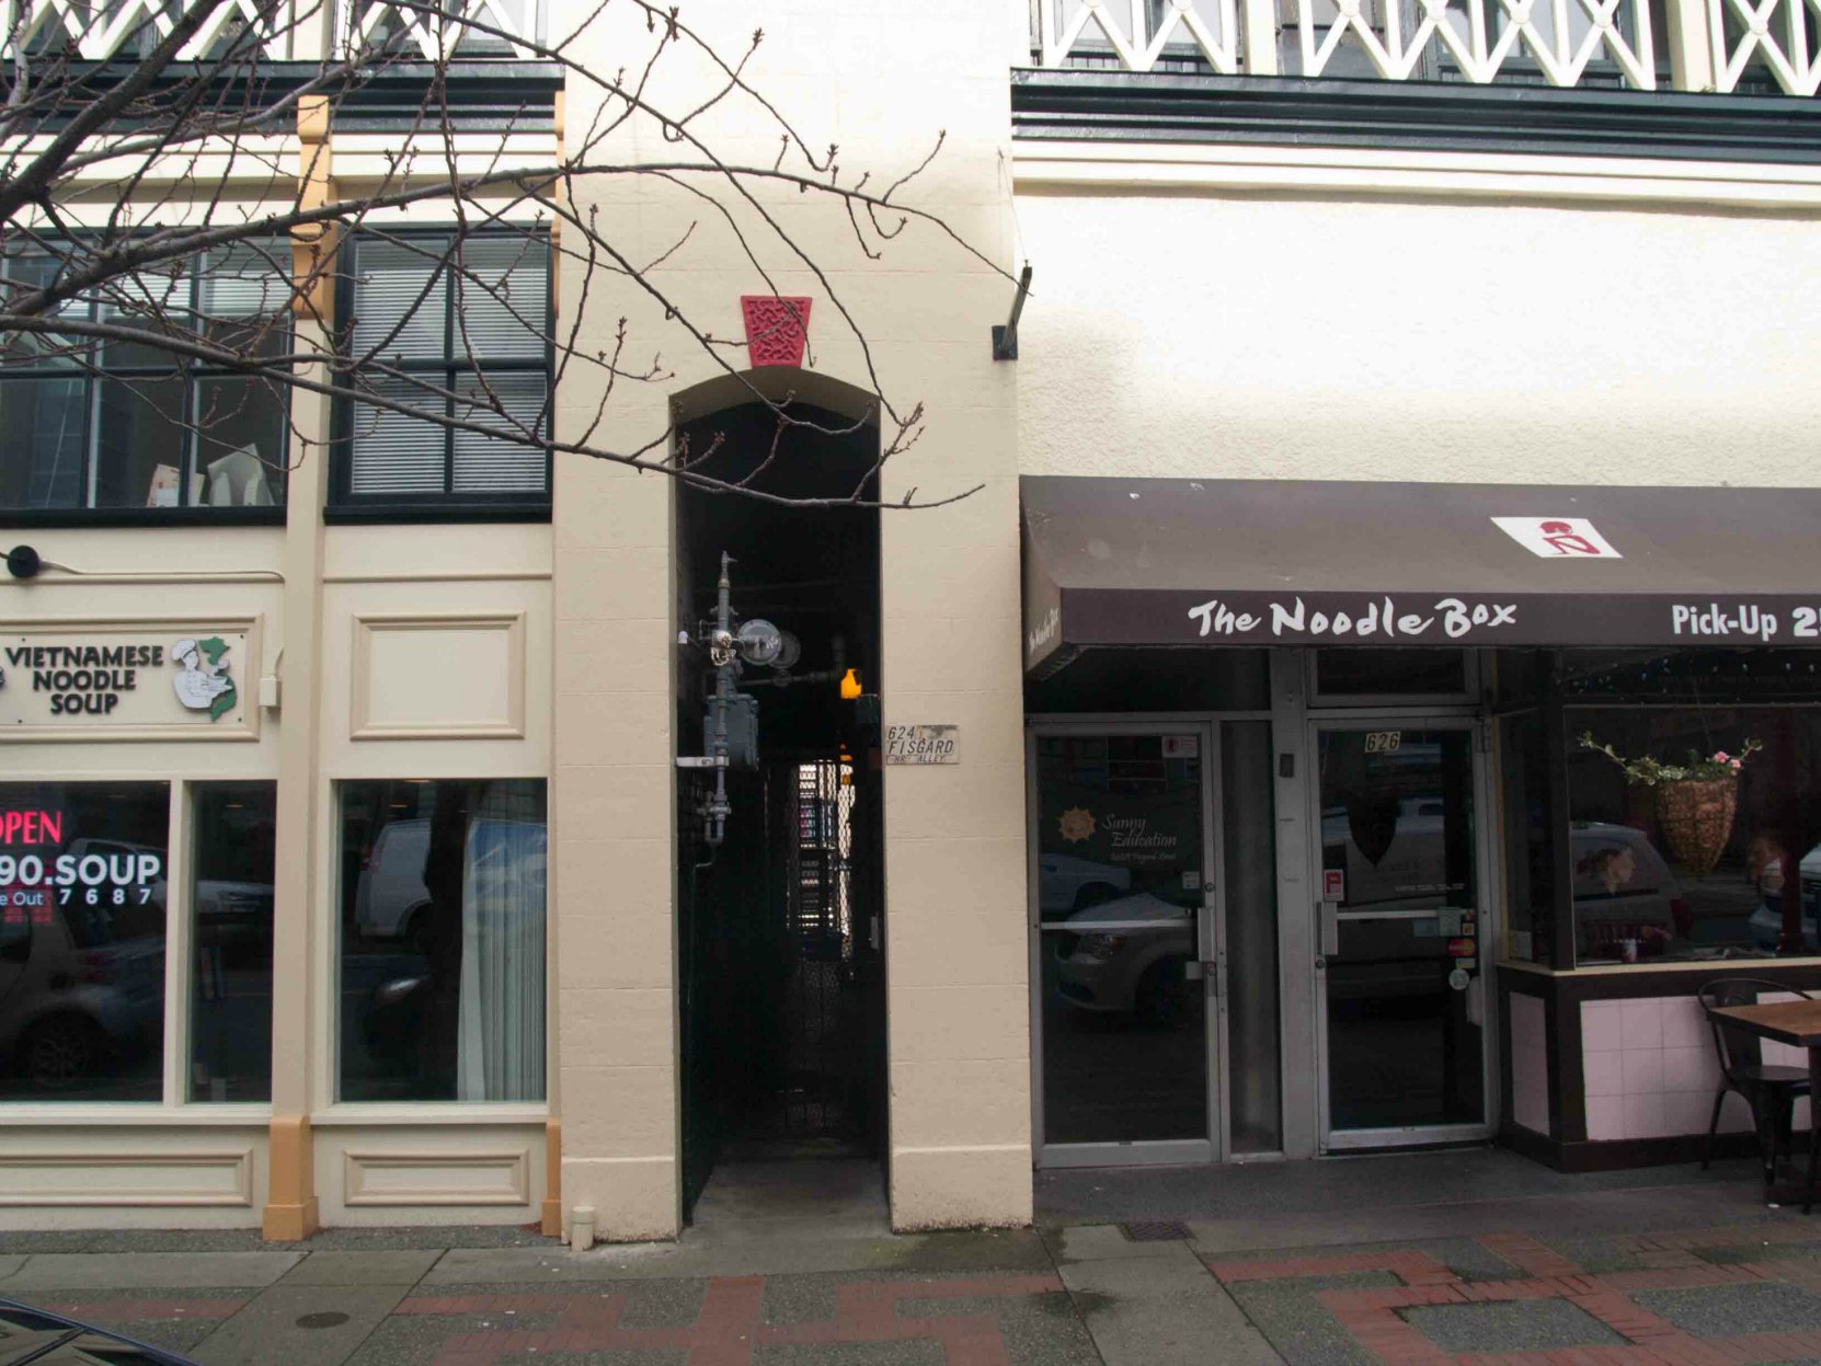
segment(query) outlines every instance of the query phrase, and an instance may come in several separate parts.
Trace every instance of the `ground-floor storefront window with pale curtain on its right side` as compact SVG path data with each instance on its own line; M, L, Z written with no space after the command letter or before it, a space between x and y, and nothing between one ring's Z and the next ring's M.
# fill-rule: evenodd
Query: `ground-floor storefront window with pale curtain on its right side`
M544 1098L544 783L342 783L341 1098Z

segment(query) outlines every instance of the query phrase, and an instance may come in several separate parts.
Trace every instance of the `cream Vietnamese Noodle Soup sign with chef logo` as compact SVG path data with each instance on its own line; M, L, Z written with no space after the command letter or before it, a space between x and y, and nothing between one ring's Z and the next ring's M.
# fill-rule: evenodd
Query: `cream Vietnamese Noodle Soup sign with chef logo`
M0 725L219 721L240 705L231 654L244 641L151 632L18 637L0 647Z

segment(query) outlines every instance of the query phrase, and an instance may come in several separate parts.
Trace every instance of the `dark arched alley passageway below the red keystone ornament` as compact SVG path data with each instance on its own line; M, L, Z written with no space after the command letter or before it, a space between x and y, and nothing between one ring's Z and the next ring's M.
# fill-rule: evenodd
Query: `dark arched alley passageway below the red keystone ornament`
M867 395L801 372L754 372L679 403L677 452L716 479L787 497L870 499L880 433ZM832 406L830 406L832 404ZM717 1166L847 1158L885 1144L883 801L878 763L880 515L677 484L679 756L707 756L716 670L703 648L723 556L736 623L801 645L788 668L741 667L754 752L677 770L677 985L683 1211ZM852 670L867 698L843 696ZM847 692L856 688L852 683ZM741 721L743 725L745 721ZM878 1171L883 1189L883 1171ZM870 1177L869 1177L870 1178Z

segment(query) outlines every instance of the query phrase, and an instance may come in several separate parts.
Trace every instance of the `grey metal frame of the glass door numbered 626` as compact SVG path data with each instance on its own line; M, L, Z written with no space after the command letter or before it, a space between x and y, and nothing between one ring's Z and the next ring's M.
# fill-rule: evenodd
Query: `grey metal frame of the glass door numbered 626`
M1309 887L1322 889L1322 774L1320 738L1326 730L1371 730L1395 723L1406 730L1464 730L1473 754L1473 883L1475 914L1479 918L1479 982L1480 982L1480 1122L1479 1124L1409 1124L1391 1129L1333 1127L1328 1113L1328 973L1322 954L1322 902L1311 907L1315 916L1315 1100L1318 1115L1318 1142L1322 1153L1344 1153L1371 1147L1409 1147L1417 1144L1453 1144L1491 1138L1499 1129L1499 991L1493 980L1491 947L1499 942L1497 861L1491 838L1493 792L1488 759L1488 721L1473 708L1462 707L1335 707L1309 716L1307 756L1309 780L1306 787L1309 838Z

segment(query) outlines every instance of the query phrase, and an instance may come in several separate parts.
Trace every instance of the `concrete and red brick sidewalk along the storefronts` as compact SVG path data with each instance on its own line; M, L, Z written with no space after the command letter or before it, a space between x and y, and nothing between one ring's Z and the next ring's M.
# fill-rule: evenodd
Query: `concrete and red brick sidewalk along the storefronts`
M1754 1164L1501 1151L1040 1178L892 1237L865 1167L717 1178L676 1244L519 1229L0 1235L0 1297L208 1366L1750 1366L1821 1361L1821 1220ZM1175 1224L1175 1226L1173 1226Z

